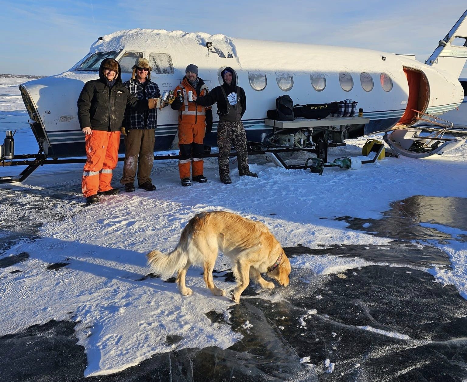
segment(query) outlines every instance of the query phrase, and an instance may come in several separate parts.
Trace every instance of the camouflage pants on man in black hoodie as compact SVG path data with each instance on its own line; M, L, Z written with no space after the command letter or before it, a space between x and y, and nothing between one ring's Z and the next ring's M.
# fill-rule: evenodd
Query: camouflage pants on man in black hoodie
M237 164L240 174L249 171L247 133L243 122L221 122L217 127L217 145L219 147L219 176L222 179L229 175L229 153L233 148L237 151Z

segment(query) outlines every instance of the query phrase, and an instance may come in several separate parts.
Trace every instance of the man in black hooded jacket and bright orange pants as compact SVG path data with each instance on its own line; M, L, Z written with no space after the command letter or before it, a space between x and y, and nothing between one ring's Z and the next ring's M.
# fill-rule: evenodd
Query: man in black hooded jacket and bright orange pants
M144 111L155 107L156 99L139 101L123 86L120 64L113 58L101 62L98 80L85 83L78 98L78 121L85 134L87 161L81 186L86 203L99 202L98 195L119 192L110 182L118 161L125 109Z

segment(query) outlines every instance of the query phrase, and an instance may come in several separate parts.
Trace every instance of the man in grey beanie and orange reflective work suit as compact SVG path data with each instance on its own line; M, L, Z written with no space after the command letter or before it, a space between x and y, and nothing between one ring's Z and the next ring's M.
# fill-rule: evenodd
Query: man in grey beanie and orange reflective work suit
M183 101L177 97L170 107L178 110L178 171L183 186L191 186L190 164L192 179L195 182L205 183L207 178L203 175L203 139L205 133L212 130L211 107L204 107L188 100L188 92L196 96L206 96L208 88L202 78L198 77L198 67L190 64L185 69L185 76L182 83L174 90L182 91Z

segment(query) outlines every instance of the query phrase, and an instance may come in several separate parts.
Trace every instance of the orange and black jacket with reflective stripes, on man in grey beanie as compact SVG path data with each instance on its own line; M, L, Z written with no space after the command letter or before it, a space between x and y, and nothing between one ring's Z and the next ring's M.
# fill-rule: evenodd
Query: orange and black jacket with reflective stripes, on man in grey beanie
M175 101L172 102L170 107L173 110L179 110L178 113L178 123L191 123L191 124L212 124L212 110L210 106L204 107L195 102L188 102L187 93L192 91L195 96L206 96L209 91L205 82L202 78L198 77L198 85L196 89L193 88L191 83L186 78L186 75L183 77L182 83L177 86L174 90L174 94L177 94L177 90L183 90L184 102L180 102L178 98L175 98Z

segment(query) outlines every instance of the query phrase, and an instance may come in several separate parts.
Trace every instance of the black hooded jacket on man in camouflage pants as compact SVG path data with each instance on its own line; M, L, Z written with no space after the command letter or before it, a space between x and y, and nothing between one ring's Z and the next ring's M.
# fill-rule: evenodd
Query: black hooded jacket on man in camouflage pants
M243 117L243 114L245 114L245 110L247 109L247 97L245 96L245 90L236 85L237 73L235 73L235 70L230 67L226 67L224 70L226 69L232 71L231 84L228 85L224 80L224 77L222 77L224 82L222 85L216 86L207 96L198 97L195 101L198 103L198 105L202 106L211 106L217 102L217 114L219 114L219 122L223 122L223 115L226 115L229 108L232 107L226 102L226 97L222 92L222 88L224 89L228 98L236 96L237 103L241 106L240 118Z

